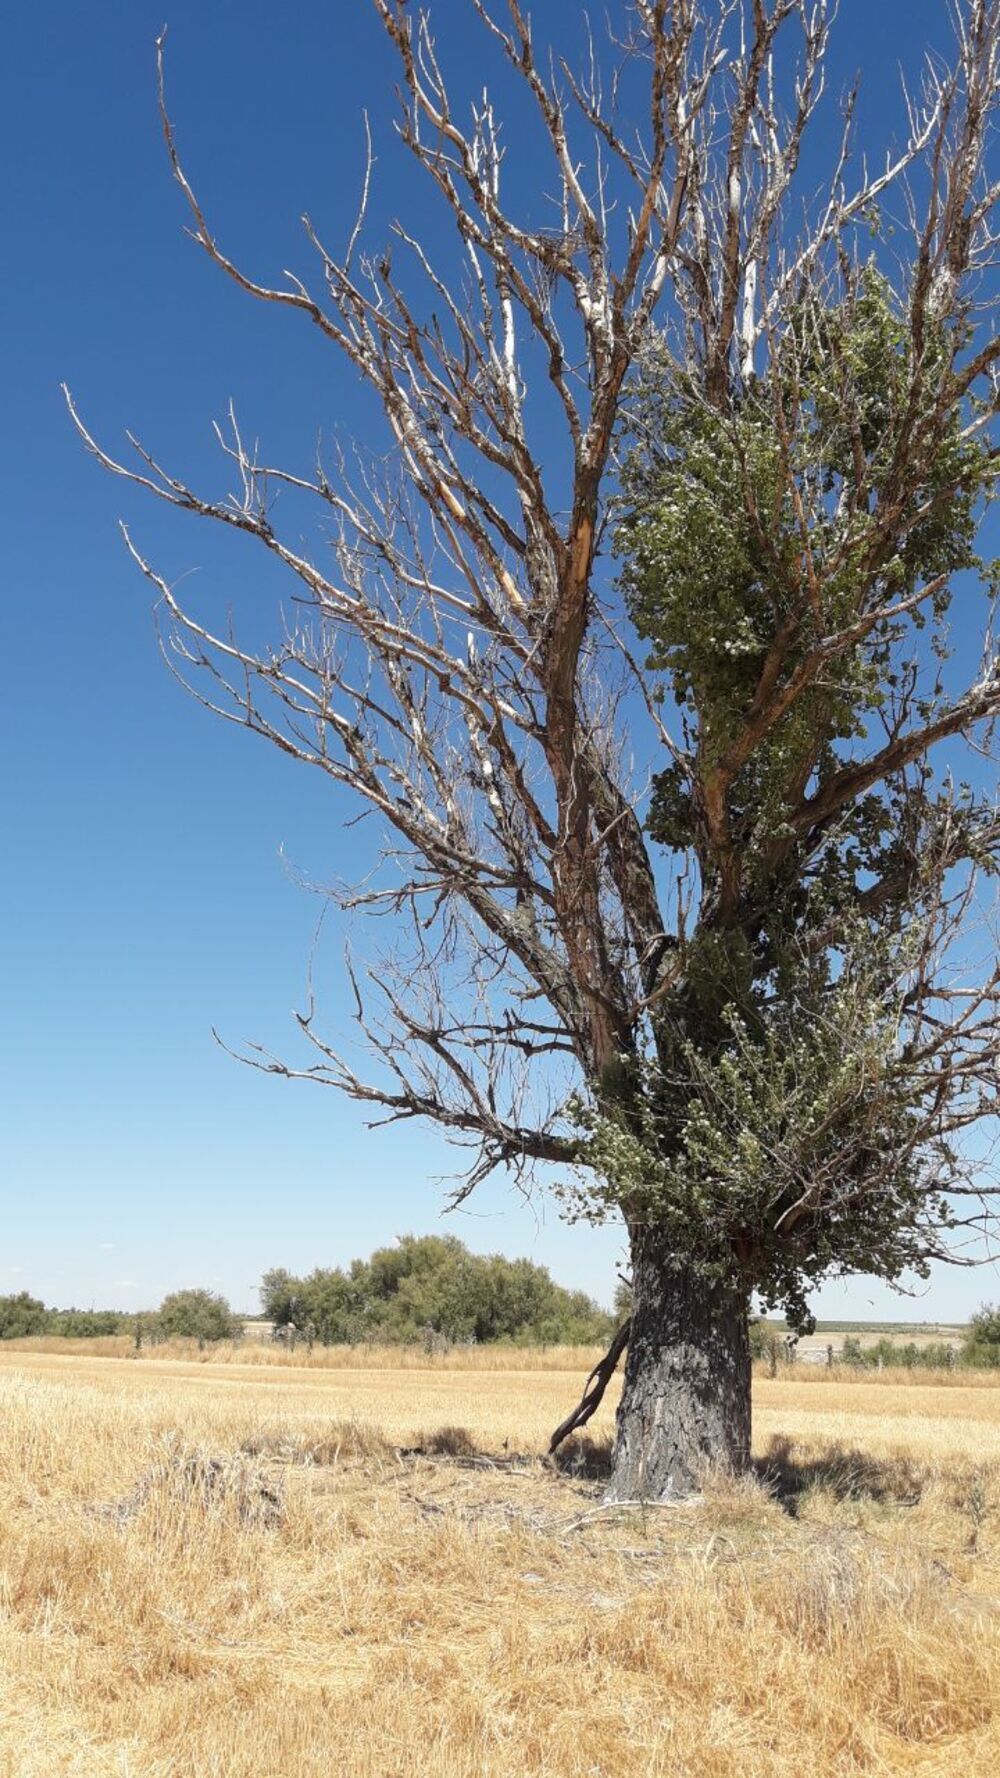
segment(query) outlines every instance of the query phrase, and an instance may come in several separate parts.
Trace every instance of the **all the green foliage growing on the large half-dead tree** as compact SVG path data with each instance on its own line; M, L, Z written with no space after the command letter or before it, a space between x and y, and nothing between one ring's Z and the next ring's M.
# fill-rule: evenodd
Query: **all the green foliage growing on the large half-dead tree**
M943 393L961 322L927 322L916 373L909 316L870 267L785 324L765 373L719 405L669 352L633 391L623 590L689 749L655 781L648 827L698 864L699 898L646 1053L569 1108L594 1181L564 1197L571 1216L655 1221L671 1252L804 1330L820 1278L925 1275L952 1223L959 1157L945 1120L929 1134L940 1076L907 1042L907 987L936 942L938 839L975 857L982 811L918 768L875 775L817 832L792 816L847 743L884 713L900 724L900 699L907 722L945 701L941 683L913 690L906 626L927 626L941 661L947 576L993 585L975 541L995 466ZM906 624L865 628L929 583ZM820 638L854 629L754 727Z

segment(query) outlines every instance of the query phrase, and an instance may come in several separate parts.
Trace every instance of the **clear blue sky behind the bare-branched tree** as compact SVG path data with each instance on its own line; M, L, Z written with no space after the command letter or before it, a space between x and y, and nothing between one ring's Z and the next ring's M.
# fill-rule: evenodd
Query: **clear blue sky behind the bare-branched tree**
M440 0L440 30L470 11ZM543 30L571 11L534 7ZM833 89L861 64L872 126L897 116L897 59L945 41L943 18L943 0L843 0ZM237 258L272 279L308 268L302 210L343 238L363 107L375 226L413 217L368 0L173 0L167 20L185 162ZM267 1266L340 1264L440 1227L456 1157L415 1127L370 1134L358 1106L240 1069L210 1035L281 1049L317 919L295 873L351 875L351 809L171 681L119 516L169 576L198 571L233 605L272 583L228 539L101 477L57 386L105 443L128 425L214 487L210 421L230 396L276 459L308 455L320 428L374 436L374 416L310 329L242 299L185 240L155 110L162 21L164 0L52 0L5 27L0 1293L130 1307L208 1284L254 1309ZM475 91L472 28L454 68ZM336 1031L349 1008L327 955ZM500 1182L448 1227L610 1300L619 1234L568 1229L541 1197ZM938 1275L918 1303L854 1280L817 1307L945 1319L989 1294L995 1269Z

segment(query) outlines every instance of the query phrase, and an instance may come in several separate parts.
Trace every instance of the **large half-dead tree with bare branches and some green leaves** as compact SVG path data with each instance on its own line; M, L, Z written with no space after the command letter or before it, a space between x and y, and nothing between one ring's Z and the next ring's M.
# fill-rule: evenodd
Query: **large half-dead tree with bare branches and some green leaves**
M386 836L342 898L393 916L347 965L381 1067L361 1077L311 999L313 1060L251 1060L431 1118L472 1147L457 1197L555 1165L571 1214L625 1220L610 1494L680 1494L749 1462L753 1291L802 1325L824 1275L963 1257L988 1213L961 1133L995 1101L998 974L968 923L1000 823L948 773L966 754L982 779L1000 709L966 585L995 468L1000 0L963 0L954 68L925 64L877 165L845 100L819 197L827 0L619 0L584 73L521 0L468 0L532 156L521 206L493 101L448 91L459 23L440 46L420 7L372 4L454 252L404 224L367 247L370 155L343 252L306 222L322 300L262 283L162 119L194 238L345 354L393 455L279 468L230 416L214 500L77 423L105 469L288 571L295 617L254 647L126 533L198 695ZM986 644L964 679L956 576Z

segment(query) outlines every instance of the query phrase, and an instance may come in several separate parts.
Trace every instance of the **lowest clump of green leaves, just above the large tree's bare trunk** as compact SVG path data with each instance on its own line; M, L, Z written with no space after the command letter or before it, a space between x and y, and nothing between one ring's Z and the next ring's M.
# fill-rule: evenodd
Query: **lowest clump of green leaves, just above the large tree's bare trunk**
M913 1154L899 997L886 997L899 949L858 946L838 980L802 971L788 997L751 990L714 1042L705 1026L701 1042L678 1035L669 1074L635 1065L617 1104L577 1104L594 1177L560 1188L568 1214L600 1221L623 1204L706 1277L731 1277L751 1246L749 1282L797 1332L811 1326L804 1289L835 1269L925 1273L925 1218L950 1213ZM806 1184L820 1214L801 1213Z

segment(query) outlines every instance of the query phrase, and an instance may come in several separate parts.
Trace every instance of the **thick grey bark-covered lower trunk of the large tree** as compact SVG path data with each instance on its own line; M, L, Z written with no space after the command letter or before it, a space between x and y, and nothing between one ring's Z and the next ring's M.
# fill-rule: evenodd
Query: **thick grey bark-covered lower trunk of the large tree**
M749 1296L712 1284L648 1230L632 1243L632 1330L609 1501L692 1494L749 1465Z

